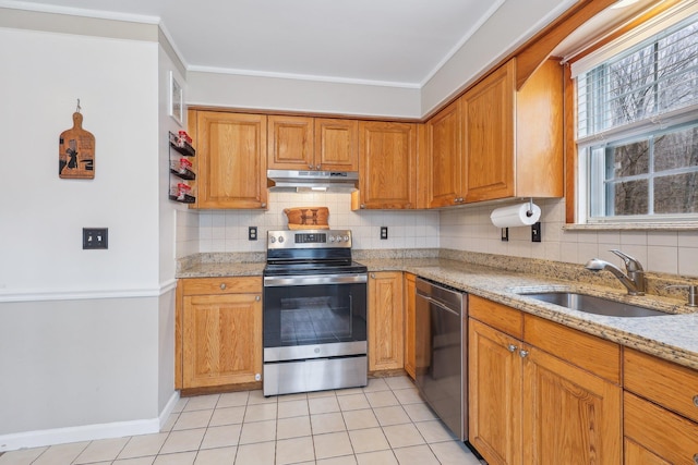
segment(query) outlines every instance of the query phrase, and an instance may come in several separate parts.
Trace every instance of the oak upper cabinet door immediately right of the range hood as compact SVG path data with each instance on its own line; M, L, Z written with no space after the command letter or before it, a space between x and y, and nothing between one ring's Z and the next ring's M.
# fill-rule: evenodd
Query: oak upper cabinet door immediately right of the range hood
M352 208L414 208L417 204L417 125L359 123L359 192Z

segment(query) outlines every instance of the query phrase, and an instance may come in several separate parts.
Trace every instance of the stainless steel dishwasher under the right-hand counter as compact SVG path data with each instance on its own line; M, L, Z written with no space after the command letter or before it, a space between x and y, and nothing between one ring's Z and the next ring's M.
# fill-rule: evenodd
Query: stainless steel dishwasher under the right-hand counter
M464 292L417 279L417 388L461 441L468 439L467 306Z

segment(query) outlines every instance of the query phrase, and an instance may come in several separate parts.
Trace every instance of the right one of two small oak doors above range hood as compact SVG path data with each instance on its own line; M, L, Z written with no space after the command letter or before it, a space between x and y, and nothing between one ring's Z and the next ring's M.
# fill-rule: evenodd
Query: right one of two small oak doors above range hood
M315 119L315 169L359 170L359 122Z

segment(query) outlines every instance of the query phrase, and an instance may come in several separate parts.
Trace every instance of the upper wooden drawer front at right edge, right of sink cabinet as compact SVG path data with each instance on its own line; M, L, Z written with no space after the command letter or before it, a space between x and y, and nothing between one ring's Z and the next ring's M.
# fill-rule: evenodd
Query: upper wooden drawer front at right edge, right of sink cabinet
M631 348L624 351L623 369L626 390L698 421L696 370Z

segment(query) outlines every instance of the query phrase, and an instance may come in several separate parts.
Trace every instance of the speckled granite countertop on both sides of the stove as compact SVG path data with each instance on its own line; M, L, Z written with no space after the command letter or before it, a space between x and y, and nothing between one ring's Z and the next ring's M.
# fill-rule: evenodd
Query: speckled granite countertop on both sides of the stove
M238 257L239 259L240 257ZM249 258L249 257L248 257ZM575 279L554 268L529 267L537 273L521 272L466 262L457 259L424 258L363 258L369 271L407 271L473 295L498 302L531 315L559 322L598 335L627 347L698 369L698 309L684 305L685 301L666 296L629 296L623 289L587 279ZM532 260L535 264L535 260ZM581 267L578 267L581 268ZM229 259L194 260L182 264L178 278L261 276L264 260L232 262ZM583 273L583 271L579 271ZM565 279L561 279L563 274ZM605 284L605 283L604 283ZM674 314L660 317L609 317L587 314L520 295L531 291L573 291L597 295Z

